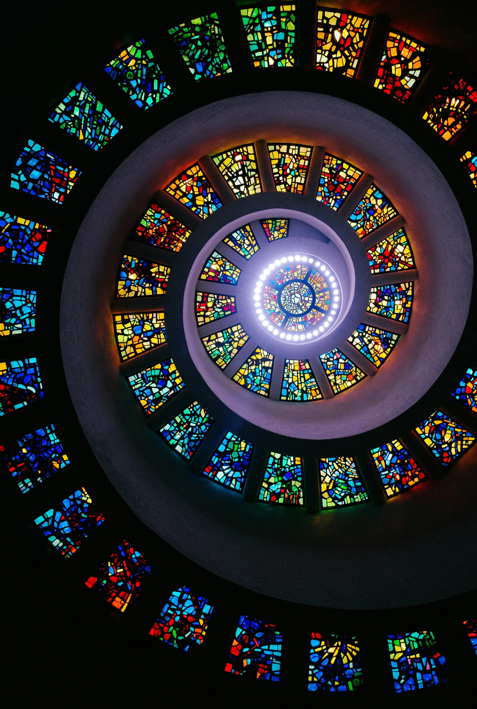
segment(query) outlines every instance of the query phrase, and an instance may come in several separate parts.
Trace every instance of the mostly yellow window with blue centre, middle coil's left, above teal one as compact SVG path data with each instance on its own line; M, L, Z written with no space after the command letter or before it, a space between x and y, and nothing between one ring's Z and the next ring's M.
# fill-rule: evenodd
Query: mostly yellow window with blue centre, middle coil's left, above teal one
M113 319L118 352L123 362L167 341L162 311L115 315Z

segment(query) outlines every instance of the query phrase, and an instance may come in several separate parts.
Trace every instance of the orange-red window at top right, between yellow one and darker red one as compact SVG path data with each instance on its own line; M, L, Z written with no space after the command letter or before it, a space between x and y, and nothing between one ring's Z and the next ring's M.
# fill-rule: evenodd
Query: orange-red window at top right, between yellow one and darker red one
M429 50L412 37L391 30L376 72L374 88L405 104L429 65Z

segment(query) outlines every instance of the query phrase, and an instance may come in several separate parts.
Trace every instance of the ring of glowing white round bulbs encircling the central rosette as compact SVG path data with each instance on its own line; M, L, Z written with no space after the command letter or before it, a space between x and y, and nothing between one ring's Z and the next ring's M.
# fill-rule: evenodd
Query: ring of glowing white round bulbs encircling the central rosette
M275 269L284 266L284 264L290 265L303 265L307 264L308 267L315 267L320 272L323 278L326 279L327 287L330 291L330 306L327 310L326 315L320 321L320 325L315 325L315 327L310 328L307 333L295 333L286 332L283 328L270 323L269 318L266 316L266 312L263 305L264 296L264 286L266 286L266 280ZM307 281L303 279L303 283L307 284ZM339 310L342 305L342 293L341 287L339 286L339 281L333 269L329 264L324 261L317 259L311 255L284 255L279 259L275 259L269 264L269 267L262 270L257 281L254 284L253 290L253 301L254 301L254 311L257 320L259 320L260 325L267 330L270 335L277 337L279 340L286 340L286 342L300 343L300 342L310 342L313 340L319 340L330 331L332 324L336 322L339 316Z

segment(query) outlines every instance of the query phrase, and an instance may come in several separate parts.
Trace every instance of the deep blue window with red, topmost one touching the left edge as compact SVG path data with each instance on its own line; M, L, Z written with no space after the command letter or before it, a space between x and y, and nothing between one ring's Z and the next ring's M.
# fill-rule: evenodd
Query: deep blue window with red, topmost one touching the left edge
M0 211L0 263L40 266L51 228Z

